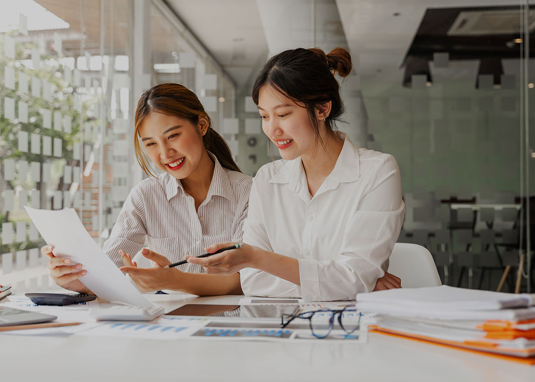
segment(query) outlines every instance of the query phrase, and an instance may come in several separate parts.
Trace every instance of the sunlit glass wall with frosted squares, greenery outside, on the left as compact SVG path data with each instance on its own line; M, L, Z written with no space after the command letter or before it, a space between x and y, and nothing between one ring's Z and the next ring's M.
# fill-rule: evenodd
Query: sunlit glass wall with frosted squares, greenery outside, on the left
M140 12L145 82L134 75L136 6L150 9ZM3 9L0 284L55 288L24 205L74 208L95 241L108 238L143 177L133 155L135 89L179 82L200 96L219 131L234 117L232 81L178 22L161 1L21 0Z

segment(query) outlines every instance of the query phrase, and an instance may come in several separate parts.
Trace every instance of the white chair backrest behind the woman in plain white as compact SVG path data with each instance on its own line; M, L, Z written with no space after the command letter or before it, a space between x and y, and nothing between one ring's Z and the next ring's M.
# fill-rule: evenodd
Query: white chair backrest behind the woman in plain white
M395 243L388 273L398 276L404 288L442 285L433 257L426 248L417 244Z

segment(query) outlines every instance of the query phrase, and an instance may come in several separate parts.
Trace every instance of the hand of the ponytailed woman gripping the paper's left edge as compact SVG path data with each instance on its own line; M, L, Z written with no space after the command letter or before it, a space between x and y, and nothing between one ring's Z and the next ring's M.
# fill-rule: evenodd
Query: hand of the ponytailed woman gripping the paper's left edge
M52 246L44 246L41 248L41 253L50 258L47 266L50 269L50 276L56 284L69 291L93 294L79 280L87 273L86 270L82 270L82 264L71 264L70 258L56 257L52 253L52 249Z

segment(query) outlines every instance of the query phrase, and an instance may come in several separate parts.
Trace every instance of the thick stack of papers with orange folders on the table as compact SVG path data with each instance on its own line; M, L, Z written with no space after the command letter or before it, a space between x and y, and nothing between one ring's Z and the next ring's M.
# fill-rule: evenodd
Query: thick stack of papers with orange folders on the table
M376 314L373 331L535 364L535 294L442 285L360 293L356 300L358 310Z

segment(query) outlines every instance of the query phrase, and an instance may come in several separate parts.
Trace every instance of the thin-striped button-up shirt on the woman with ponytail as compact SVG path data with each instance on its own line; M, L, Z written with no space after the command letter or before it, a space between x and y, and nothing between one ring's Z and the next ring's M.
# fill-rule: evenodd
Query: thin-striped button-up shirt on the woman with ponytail
M123 266L119 249L134 256L146 239L150 250L172 263L184 260L186 255L201 255L204 248L216 243L241 241L252 178L222 167L209 154L215 169L206 200L198 211L193 197L169 173L144 179L131 190L103 248L117 266ZM204 272L200 265L191 263L177 269Z

